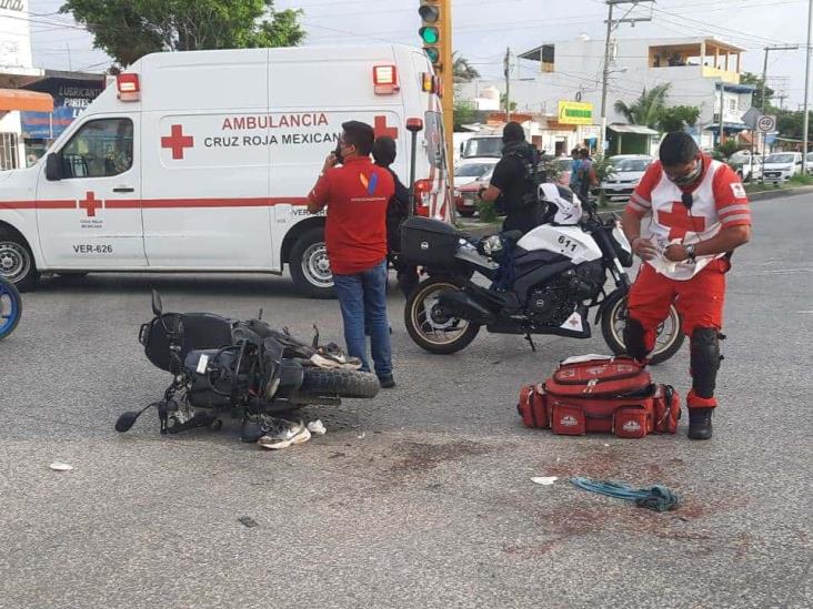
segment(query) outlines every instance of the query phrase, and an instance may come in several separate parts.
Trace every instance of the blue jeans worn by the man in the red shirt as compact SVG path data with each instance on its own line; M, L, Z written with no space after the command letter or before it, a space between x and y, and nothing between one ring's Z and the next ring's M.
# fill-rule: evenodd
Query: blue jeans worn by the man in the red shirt
M361 369L370 372L364 337L367 322L375 374L379 378L391 376L392 348L390 323L387 319L387 261L352 275L334 274L333 283L342 309L348 354L360 358Z

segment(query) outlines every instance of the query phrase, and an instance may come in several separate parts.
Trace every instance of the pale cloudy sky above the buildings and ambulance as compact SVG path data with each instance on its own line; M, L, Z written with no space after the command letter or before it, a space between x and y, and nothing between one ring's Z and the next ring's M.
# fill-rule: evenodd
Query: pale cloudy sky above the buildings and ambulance
M34 62L52 69L104 69L109 60L92 48L92 38L69 17L56 14L61 4L30 0ZM277 0L278 8L304 11L307 44L415 44L418 6L418 0ZM502 73L506 45L522 52L581 34L604 38L603 0L453 0L452 6L454 48L485 78ZM762 72L766 45L804 44L807 6L809 0L659 0L632 13L651 16L651 22L624 24L618 37L715 35L747 49L744 69ZM518 75L532 77L533 68L522 68ZM776 88L789 95L786 106L796 108L804 95L803 51L772 52L770 77L784 78Z

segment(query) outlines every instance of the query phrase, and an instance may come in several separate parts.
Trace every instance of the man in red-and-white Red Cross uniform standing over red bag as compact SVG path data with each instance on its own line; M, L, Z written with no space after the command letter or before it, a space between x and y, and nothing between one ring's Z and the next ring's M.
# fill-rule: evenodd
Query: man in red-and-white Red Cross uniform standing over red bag
M642 232L644 217L651 222ZM731 253L751 238L745 189L729 165L702 154L690 135L669 133L660 161L646 170L624 210L623 225L632 251L645 261L629 297L628 352L646 361L656 328L675 303L691 345L689 437L709 439L717 405L725 273Z

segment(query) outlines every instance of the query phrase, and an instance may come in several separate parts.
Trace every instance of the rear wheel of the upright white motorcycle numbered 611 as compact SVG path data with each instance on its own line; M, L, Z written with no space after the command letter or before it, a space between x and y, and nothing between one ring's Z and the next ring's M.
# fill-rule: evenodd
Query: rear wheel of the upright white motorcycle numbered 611
M438 307L441 290L460 290L445 278L430 278L418 284L403 312L406 332L414 343L429 353L449 355L469 346L480 332L478 324L449 317Z

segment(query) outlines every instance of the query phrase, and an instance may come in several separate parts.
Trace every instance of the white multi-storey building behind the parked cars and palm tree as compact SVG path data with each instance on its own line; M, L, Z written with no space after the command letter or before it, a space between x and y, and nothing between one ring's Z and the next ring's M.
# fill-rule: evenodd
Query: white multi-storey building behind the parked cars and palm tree
M711 148L717 138L721 87L725 135L747 129L742 115L751 106L754 87L740 83L743 49L713 38L628 39L614 41L611 49L606 100L610 125L628 122L615 111L616 101L630 104L644 88L670 83L668 105L700 108L695 134L702 146ZM518 111L556 116L560 101L581 101L593 104L593 123L600 124L603 40L580 38L543 44L519 58L520 78L511 81L511 100L516 102ZM535 75L522 78L533 72ZM505 84L499 80L466 83L461 87L461 95L475 99L480 91L493 87L504 91ZM568 145L584 132L584 128L558 124L555 119L553 126L576 131ZM610 131L612 136L612 126Z

